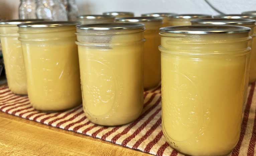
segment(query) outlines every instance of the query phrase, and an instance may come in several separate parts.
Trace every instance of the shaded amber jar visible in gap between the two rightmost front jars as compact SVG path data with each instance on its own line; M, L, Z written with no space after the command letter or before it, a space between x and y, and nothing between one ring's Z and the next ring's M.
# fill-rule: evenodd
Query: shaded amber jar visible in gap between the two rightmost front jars
M144 89L150 89L157 86L161 81L160 67L160 45L159 28L162 25L161 17L131 17L117 18L116 22L143 23L146 30L144 37Z

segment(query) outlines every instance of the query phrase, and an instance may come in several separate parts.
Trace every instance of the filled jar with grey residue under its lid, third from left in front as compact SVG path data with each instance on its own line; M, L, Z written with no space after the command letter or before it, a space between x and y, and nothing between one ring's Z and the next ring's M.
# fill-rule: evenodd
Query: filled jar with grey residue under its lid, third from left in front
M144 24L77 26L83 108L95 124L123 125L143 109Z

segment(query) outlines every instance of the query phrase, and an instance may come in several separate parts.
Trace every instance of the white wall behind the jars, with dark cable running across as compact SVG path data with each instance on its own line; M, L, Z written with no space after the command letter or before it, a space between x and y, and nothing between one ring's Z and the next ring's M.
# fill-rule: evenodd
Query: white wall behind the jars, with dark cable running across
M0 18L17 19L20 0L0 0ZM204 0L76 0L80 14L132 11L136 16L150 12L218 14ZM209 0L227 14L256 10L256 0Z

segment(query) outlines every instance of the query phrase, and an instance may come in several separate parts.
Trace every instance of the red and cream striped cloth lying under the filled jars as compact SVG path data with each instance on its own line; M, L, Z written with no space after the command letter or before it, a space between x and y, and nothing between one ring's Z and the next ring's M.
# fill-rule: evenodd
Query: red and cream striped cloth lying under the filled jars
M239 142L232 156L256 155L256 95L255 83L248 88ZM40 122L61 129L82 133L157 156L182 156L164 140L161 130L160 86L144 93L144 110L134 122L116 127L91 123L82 106L59 113L41 113L32 108L26 96L13 94L8 87L0 88L2 112Z

